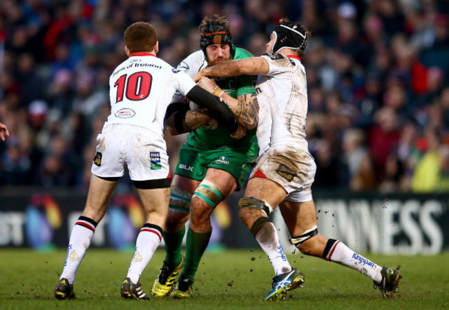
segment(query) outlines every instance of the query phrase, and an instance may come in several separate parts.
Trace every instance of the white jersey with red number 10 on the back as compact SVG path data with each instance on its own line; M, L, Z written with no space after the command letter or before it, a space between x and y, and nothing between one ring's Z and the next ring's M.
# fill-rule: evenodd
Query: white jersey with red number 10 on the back
M134 53L109 78L111 115L104 126L136 125L162 136L173 94L185 96L195 85L190 76L153 54Z

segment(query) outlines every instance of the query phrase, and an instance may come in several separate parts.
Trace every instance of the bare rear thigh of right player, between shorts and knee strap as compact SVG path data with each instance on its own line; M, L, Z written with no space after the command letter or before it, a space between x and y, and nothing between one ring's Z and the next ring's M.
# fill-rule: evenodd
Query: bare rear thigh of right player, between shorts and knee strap
M314 200L303 203L286 200L280 203L279 209L292 236L300 236L316 225Z

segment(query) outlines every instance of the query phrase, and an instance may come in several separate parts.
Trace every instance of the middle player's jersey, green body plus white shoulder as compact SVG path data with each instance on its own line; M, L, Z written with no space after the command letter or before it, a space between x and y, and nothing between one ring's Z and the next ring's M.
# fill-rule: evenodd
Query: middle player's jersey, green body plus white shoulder
M245 59L253 56L247 50L236 48L233 53L233 59ZM207 60L202 50L193 52L187 56L184 61L178 66L178 70L186 72L193 78L201 69L207 67ZM229 78L214 78L217 85L222 88L229 96L237 98L237 96L244 94L254 94L254 81L252 76L240 75ZM199 127L197 130L191 132L187 138L187 143L195 145L201 149L210 147L233 146L239 147L243 145L251 146L257 149L256 130L248 130L245 137L241 139L231 138L231 132L225 127L218 126L216 129L209 129L207 127ZM255 149L254 149L255 150ZM252 152L252 151L251 151ZM256 151L257 152L257 151Z

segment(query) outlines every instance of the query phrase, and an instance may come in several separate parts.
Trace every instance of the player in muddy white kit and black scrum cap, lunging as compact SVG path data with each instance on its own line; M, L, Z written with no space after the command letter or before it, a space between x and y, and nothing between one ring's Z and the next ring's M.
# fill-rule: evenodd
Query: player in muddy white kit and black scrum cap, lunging
M376 265L343 242L318 234L311 190L316 165L305 139L307 84L300 60L309 37L302 25L281 19L267 43L268 54L205 68L194 80L200 80L199 85L208 89L211 81L204 76L259 75L256 91L260 151L239 207L240 218L267 256L271 258L280 245L276 229L267 217L279 206L290 242L303 254L360 271L372 278L384 298L394 297L402 278L397 269ZM296 269L276 272L273 289L264 299L284 299L287 291L303 282L303 274Z

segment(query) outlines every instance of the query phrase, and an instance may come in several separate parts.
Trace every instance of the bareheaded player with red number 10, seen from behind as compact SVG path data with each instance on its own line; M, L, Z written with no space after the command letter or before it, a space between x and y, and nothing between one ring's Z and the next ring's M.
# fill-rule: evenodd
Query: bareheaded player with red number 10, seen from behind
M124 33L124 41L129 58L109 79L111 115L97 136L86 207L70 234L64 270L55 287L58 299L75 297L77 269L125 167L146 218L120 293L124 298L149 299L139 278L162 240L169 209L171 175L163 129L167 106L176 92L206 107L230 132L237 130L236 118L224 101L156 57L159 45L152 25L133 23Z

